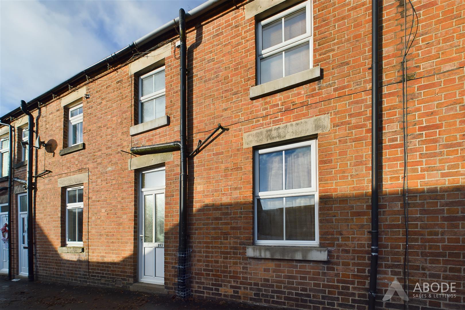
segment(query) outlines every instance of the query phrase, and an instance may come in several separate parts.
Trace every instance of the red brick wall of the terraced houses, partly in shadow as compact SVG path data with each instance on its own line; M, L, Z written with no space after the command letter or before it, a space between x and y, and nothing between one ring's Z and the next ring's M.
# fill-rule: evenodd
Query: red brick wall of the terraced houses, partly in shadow
M410 305L415 309L459 309L465 302L465 6L453 0L412 2L419 30L407 57L410 292L416 282L456 282L458 290L457 297L411 298ZM407 13L409 22L408 3ZM398 309L402 301L397 295L388 302L381 299L394 278L403 283L404 2L384 1L380 16L377 300L379 308ZM323 79L253 101L248 92L255 85L255 20L245 19L244 4L226 9L216 18L190 23L189 147L192 150L198 139L208 135L205 131L218 123L229 129L189 160L194 297L299 309L366 308L371 2L314 1L313 21L313 63L323 69ZM91 97L84 99L85 150L65 156L58 155L60 147L54 154L35 152L36 171L44 166L53 171L37 182L38 278L106 286L114 286L116 279L122 279L125 286L137 281L137 173L128 171L130 155L121 150L179 137L179 63L173 55L165 61L169 126L129 136L129 127L137 123L137 83L123 66L87 84ZM246 257L246 246L253 241L252 148L243 148L243 134L323 114L330 115L331 130L318 136L319 234L320 245L329 248L329 261ZM42 139L62 145L62 117L60 100L41 109ZM179 154L173 158L166 163L165 282L170 292L178 240ZM86 253L59 254L62 203L57 179L87 171Z

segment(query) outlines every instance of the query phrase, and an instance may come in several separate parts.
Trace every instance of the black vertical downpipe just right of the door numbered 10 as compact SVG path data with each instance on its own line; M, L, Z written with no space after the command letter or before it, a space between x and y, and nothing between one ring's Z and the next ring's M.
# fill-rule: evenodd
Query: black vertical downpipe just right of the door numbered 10
M188 295L187 277L187 46L186 12L179 9L179 78L180 78L180 160L179 174L179 248L178 248L178 287L177 294L185 298Z

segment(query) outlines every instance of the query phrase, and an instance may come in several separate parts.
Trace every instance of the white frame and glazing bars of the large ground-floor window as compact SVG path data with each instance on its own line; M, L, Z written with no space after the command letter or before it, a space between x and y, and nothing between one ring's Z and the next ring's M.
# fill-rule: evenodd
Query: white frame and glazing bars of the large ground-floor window
M280 191L259 191L259 154L265 154L276 151L284 151L297 147L311 146L311 169L312 169L312 187L299 188L292 190L280 190ZM318 216L318 206L319 206L319 197L318 197L318 169L317 169L317 160L318 160L318 151L317 151L317 139L312 139L303 142L291 143L286 145L280 145L275 147L269 147L264 149L255 150L254 156L254 198L253 198L253 215L254 215L254 228L253 228L253 240L255 244L262 245L319 245L319 216ZM285 160L283 156L283 161ZM283 162L284 165L284 162ZM284 177L283 170L283 177ZM284 182L284 179L283 179ZM293 241L293 240L258 240L258 221L257 221L257 199L265 198L282 198L282 197L293 197L293 196L315 196L315 240L310 241ZM285 209L285 208L284 208ZM284 238L286 238L286 212L283 210L283 221L284 221Z

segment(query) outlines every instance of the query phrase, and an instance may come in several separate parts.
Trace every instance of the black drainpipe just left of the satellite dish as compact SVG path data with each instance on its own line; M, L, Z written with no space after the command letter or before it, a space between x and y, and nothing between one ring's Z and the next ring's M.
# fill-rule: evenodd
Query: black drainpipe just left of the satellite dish
M27 110L26 101L21 100L21 111L27 115L29 136L27 140L27 278L34 281L34 235L33 235L33 206L32 206L32 152L34 135L34 118Z

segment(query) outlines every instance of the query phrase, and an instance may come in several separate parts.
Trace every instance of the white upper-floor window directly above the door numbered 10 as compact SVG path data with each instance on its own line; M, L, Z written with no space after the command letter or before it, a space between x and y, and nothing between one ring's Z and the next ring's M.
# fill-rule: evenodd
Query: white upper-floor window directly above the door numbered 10
M139 77L139 123L165 115L165 67Z

